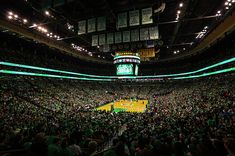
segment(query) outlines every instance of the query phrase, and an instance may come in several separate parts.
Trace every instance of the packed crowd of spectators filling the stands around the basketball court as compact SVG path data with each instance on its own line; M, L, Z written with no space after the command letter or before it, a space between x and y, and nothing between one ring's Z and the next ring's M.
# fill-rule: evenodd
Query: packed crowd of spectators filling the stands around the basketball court
M50 156L232 155L234 84L233 77L151 85L9 77L1 80L0 148ZM149 100L146 112L94 109L130 98Z

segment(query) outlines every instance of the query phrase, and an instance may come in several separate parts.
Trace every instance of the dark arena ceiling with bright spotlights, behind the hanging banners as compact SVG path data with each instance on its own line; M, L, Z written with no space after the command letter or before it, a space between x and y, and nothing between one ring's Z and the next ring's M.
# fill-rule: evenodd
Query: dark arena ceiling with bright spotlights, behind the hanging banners
M155 13L150 25L159 27L159 39L154 41L159 53L152 59L157 61L189 53L226 18L234 9L234 3L234 0L2 0L0 9L3 18L9 12L17 13L27 22L50 30L59 36L58 40L91 52L91 57L111 61L115 50L145 48L146 42L119 44L115 45L116 49L111 47L109 52L103 52L98 46L92 47L92 35L119 31L116 27L118 13L151 7ZM99 16L107 19L105 31L77 35L78 21ZM68 25L74 26L74 31L69 30Z

